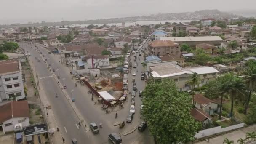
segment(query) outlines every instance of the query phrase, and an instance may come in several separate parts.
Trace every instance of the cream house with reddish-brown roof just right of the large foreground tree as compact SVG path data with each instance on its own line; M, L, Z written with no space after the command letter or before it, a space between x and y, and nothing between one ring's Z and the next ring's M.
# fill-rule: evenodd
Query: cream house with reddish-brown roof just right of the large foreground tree
M202 109L208 115L218 112L218 104L202 94L195 94L194 105L197 109Z

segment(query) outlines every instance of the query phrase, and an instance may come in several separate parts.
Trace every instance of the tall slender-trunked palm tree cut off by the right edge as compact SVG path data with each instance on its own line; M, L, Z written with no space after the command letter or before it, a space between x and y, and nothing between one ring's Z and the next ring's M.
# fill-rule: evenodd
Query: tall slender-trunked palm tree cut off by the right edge
M248 88L248 96L245 102L245 111L244 111L244 114L246 114L249 106L249 102L251 100L251 93L255 91L255 87L256 87L256 67L254 65L249 65L249 67L245 69L244 74L245 74L245 83Z

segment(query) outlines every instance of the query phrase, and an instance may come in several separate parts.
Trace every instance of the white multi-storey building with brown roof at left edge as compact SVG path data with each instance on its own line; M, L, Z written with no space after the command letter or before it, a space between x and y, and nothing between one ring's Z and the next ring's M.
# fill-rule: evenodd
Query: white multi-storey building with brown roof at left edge
M0 101L25 98L20 61L0 61Z

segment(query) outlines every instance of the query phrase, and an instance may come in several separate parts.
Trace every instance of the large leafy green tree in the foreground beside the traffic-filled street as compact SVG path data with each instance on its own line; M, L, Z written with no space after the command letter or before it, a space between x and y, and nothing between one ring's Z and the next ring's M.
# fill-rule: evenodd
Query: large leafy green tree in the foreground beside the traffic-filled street
M201 124L190 114L189 96L179 93L172 80L149 81L142 95L142 115L157 143L185 143L200 130Z

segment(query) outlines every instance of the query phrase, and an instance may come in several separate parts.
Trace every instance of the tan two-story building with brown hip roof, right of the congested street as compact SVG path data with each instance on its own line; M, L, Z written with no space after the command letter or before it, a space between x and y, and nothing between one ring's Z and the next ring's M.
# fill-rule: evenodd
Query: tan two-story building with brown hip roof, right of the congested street
M149 54L164 56L166 54L180 55L180 45L171 40L155 40L149 43Z

